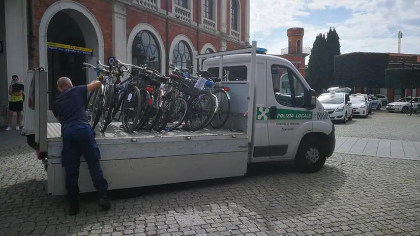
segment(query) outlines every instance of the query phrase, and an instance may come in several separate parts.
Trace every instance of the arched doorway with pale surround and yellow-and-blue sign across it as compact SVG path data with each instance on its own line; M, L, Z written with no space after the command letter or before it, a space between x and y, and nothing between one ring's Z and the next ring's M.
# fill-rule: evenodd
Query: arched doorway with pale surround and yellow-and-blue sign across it
M73 49L68 50L69 46ZM73 46L79 48L74 50ZM59 94L56 90L59 77L69 77L74 85L86 84L95 79L96 73L92 69L83 70L83 62L104 63L104 40L95 16L74 1L58 1L49 6L39 25L39 55L40 67L48 72L51 108Z

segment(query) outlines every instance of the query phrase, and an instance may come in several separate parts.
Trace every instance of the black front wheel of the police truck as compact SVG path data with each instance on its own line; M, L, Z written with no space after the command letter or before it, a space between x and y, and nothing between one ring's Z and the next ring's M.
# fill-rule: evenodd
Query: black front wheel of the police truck
M322 143L315 137L301 141L294 163L303 173L318 172L325 164L326 152Z

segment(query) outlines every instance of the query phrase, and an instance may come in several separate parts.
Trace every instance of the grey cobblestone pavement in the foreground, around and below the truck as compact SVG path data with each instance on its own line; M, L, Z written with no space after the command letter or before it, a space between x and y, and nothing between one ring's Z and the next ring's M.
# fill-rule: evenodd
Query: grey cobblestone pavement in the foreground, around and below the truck
M420 235L416 161L334 154L314 174L257 165L246 178L111 192L107 212L85 194L76 217L47 195L29 147L6 146L0 161L0 235Z

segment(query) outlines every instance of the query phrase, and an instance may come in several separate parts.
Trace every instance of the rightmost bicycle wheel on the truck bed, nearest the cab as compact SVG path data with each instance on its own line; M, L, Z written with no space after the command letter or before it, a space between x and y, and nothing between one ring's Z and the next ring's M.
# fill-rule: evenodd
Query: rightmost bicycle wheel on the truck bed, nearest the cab
M214 129L220 129L226 124L227 120L229 119L230 96L224 90L216 90L215 92L213 92L213 94L216 95L218 99L219 108L215 116L213 116L213 119L210 122L210 125Z

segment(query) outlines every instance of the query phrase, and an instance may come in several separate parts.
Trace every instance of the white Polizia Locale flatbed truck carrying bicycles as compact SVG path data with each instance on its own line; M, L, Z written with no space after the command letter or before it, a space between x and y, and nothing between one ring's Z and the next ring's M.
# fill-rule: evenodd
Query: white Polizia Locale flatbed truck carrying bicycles
M245 67L244 80L222 81L231 96L224 129L129 134L113 122L105 133L97 132L109 189L243 176L255 162L294 161L302 172L319 171L335 148L333 123L295 67L284 58L257 53L256 46L253 41L250 48L196 56L213 56L203 69L220 75ZM48 111L47 84L46 72L28 71L22 135L47 171L48 193L64 195L61 126ZM79 188L95 191L83 157Z

